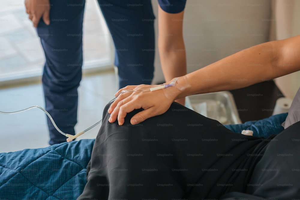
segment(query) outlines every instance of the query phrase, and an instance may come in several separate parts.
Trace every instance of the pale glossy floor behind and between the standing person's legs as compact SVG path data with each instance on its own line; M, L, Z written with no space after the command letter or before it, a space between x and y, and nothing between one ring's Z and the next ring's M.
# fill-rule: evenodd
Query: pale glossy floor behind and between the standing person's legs
M113 70L82 78L78 89L76 133L87 129L102 118L104 106L114 98L118 88ZM1 88L0 110L12 112L33 105L44 108L43 95L41 84ZM100 126L89 130L79 138L95 138ZM34 108L14 115L0 114L0 127L0 153L49 146L46 114L40 109Z

